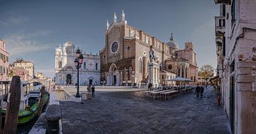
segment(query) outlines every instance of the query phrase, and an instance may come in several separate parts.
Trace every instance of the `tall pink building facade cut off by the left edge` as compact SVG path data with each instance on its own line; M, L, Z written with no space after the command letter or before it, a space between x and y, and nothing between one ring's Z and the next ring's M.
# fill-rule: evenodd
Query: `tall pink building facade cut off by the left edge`
M0 40L0 81L8 81L9 52L6 51L6 42Z

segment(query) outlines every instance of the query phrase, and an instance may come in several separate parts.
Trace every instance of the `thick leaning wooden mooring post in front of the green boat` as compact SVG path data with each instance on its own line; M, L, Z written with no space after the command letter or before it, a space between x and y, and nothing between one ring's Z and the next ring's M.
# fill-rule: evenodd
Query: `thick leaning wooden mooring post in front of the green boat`
M21 101L21 79L14 76L7 99L6 118L4 123L4 134L14 134L18 125L18 110Z

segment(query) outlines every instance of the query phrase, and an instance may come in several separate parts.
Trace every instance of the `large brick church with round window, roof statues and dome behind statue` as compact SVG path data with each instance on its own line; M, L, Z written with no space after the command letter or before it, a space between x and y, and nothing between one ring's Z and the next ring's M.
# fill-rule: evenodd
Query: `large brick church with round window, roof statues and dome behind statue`
M192 52L193 58L178 57L184 54L182 50L178 50L172 36L169 43L164 43L142 30L127 25L124 11L121 21L117 22L115 13L114 22L110 25L107 21L105 47L100 51L101 82L107 85L146 84L149 79L150 47L160 65L161 84L175 84L168 80L176 76L189 79L193 77L196 82L196 54L193 52L192 43L189 44L189 50L183 51Z

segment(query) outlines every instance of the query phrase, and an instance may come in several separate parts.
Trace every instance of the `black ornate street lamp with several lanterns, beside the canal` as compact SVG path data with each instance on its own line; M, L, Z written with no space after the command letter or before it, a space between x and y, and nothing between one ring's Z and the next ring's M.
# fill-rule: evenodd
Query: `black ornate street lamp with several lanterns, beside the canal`
M75 97L79 98L80 94L79 94L79 69L82 65L82 60L83 60L83 56L78 48L77 52L75 52L76 54L76 58L75 58L75 67L76 69L78 69L78 86L77 86L77 94L75 95Z

